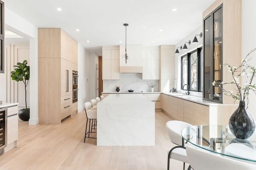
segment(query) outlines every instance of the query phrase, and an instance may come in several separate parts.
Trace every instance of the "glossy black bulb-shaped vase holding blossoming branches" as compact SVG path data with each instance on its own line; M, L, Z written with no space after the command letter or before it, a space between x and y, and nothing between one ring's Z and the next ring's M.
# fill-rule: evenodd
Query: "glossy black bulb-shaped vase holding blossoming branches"
M244 101L240 101L238 108L230 116L228 125L232 134L239 139L247 139L254 133L255 121Z

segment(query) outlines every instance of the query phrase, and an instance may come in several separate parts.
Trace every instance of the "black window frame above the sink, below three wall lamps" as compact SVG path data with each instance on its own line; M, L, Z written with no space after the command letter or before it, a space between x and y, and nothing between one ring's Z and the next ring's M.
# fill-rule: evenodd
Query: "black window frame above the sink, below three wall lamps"
M190 65L191 65L191 54L197 52L197 89L196 90L191 90L191 87L189 86L189 91L192 92L202 92L202 47L197 48L194 51L191 51L189 53L186 53L185 55L181 56L181 89L183 88L183 64L182 64L182 59L183 57L187 56L187 82L186 84L190 85L191 84L191 70L190 70Z

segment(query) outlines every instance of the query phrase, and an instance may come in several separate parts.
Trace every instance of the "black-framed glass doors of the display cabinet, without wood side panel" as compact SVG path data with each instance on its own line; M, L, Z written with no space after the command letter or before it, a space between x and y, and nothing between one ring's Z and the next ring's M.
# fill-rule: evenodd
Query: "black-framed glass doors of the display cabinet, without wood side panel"
M203 98L222 103L222 87L212 83L222 82L222 44L223 44L222 5L218 6L203 20L204 24L204 75Z

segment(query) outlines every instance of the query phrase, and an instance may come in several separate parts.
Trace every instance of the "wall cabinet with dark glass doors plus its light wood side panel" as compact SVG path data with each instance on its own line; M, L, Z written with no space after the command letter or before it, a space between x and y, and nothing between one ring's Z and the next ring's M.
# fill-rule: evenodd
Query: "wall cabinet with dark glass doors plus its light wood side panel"
M212 82L231 82L232 75L224 63L238 66L241 63L241 0L216 0L203 12L203 98L212 102L233 104L222 88L235 91L225 84L212 86Z

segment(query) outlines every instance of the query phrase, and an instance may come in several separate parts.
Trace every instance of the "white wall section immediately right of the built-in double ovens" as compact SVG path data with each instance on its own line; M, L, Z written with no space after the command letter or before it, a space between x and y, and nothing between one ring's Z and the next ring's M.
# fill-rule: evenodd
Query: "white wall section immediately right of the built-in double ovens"
M89 52L78 43L78 113L89 101Z

